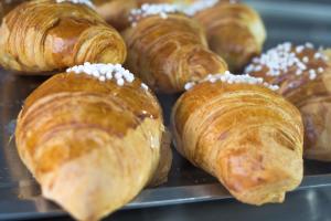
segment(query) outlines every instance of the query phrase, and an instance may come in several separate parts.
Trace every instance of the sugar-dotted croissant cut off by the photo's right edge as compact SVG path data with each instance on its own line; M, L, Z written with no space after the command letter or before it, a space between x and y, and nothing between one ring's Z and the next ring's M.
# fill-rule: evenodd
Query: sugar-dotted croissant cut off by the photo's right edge
M300 109L305 157L331 161L331 66L323 52L286 42L255 57L246 72L279 85L278 93Z

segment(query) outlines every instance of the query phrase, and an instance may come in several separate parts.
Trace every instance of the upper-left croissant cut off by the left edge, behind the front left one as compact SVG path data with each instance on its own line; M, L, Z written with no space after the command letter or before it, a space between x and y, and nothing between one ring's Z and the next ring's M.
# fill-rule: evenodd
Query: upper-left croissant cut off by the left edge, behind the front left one
M24 2L0 28L0 64L43 73L88 62L124 63L119 33L85 4L52 0Z

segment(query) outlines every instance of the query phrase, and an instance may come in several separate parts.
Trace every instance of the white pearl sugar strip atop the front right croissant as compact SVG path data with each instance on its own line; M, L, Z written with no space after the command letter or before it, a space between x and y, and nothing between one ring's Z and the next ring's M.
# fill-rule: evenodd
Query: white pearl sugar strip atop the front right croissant
M264 80L261 77L254 77L254 76L249 76L248 74L234 75L234 74L229 73L228 71L226 71L223 74L209 74L204 80L202 80L197 83L202 83L202 82L211 82L211 83L224 82L227 84L255 84L255 85L265 86L271 91L279 90L279 87L277 85L271 85L271 84L264 82ZM195 82L189 82L185 84L185 90L188 91L195 85L196 85Z

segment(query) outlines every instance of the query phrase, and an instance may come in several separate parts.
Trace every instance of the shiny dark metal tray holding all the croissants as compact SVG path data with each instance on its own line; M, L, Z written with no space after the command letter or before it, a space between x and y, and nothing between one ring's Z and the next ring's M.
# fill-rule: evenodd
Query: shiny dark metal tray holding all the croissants
M278 42L292 41L331 46L331 6L247 1L260 11L267 29L266 49ZM310 1L313 2L313 1ZM19 159L13 131L15 117L24 98L46 77L22 77L0 70L0 220L35 219L63 215L65 212L43 199L40 188ZM166 124L178 96L159 95ZM169 181L161 187L143 190L124 209L156 207L231 198L211 176L191 166L173 150L174 160ZM298 188L331 186L331 164L305 161L305 178Z

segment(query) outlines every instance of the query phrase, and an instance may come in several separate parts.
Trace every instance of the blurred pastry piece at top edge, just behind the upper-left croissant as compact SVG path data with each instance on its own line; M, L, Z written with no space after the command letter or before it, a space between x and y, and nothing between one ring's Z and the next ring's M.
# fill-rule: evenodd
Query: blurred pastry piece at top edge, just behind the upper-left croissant
M94 0L93 3L95 10L119 31L130 25L129 12L137 8L136 0Z

